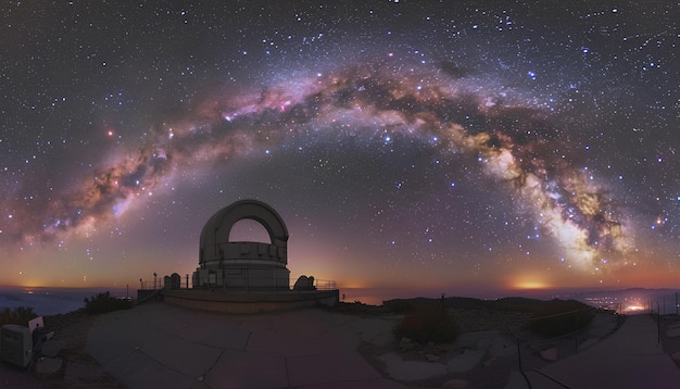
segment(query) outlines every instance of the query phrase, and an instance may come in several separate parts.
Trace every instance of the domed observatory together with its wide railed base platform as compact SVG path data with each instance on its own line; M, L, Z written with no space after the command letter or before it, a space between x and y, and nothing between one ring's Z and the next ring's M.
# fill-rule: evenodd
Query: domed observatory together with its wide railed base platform
M262 225L268 242L231 241L234 226L242 219ZM217 211L203 226L192 288L160 292L171 304L228 313L338 303L335 281L300 276L291 289L287 265L288 229L281 216L262 201L241 200Z

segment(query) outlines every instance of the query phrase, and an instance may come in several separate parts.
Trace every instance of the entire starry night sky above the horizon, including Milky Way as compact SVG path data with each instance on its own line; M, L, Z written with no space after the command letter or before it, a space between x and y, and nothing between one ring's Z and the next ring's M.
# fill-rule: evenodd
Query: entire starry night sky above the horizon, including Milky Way
M679 284L678 1L0 11L0 285L190 274L240 199L282 216L293 279Z

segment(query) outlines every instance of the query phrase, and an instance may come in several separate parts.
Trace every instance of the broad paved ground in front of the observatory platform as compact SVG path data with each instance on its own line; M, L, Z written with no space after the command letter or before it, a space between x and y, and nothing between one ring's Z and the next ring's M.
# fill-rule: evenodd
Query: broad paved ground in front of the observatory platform
M378 388L358 353L393 323L301 310L226 315L154 303L103 315L87 352L130 388Z

